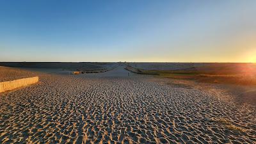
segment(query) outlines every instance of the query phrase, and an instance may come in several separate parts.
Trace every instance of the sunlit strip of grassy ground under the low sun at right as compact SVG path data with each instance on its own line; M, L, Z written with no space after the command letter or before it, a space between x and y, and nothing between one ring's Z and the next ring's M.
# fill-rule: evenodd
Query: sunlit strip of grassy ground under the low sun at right
M234 64L236 65L236 64ZM193 79L205 83L256 85L256 65L244 67L198 67L180 70L143 70L126 67L127 70L138 74L157 75L172 79Z

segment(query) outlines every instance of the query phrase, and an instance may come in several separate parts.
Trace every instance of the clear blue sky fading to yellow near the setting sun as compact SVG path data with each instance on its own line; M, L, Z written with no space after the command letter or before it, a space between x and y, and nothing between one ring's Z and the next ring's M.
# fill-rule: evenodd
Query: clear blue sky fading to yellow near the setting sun
M0 0L0 61L256 62L256 1Z

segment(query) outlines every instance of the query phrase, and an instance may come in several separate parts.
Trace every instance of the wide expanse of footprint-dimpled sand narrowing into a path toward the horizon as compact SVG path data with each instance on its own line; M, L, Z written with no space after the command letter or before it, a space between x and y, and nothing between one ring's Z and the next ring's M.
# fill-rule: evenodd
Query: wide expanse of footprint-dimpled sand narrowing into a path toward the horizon
M255 143L256 108L124 67L0 93L0 143Z

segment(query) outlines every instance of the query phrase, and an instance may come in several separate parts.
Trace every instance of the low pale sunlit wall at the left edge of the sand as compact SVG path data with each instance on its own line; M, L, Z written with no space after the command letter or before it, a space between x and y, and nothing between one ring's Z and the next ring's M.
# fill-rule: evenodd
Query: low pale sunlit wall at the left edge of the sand
M16 79L13 81L0 82L0 93L6 92L8 90L13 90L15 88L20 88L22 86L28 86L29 84L37 83L38 77L28 77L24 79Z

